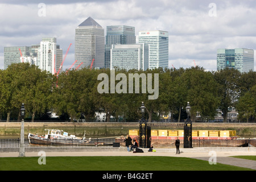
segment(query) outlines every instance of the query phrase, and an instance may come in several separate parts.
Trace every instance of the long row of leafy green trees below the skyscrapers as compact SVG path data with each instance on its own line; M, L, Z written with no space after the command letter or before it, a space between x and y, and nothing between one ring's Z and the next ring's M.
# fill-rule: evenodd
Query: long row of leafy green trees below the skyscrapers
M98 78L101 73L108 76L109 85L102 85L102 81L107 80ZM139 93L110 92L113 86L111 78L114 78L115 89L119 86L119 90L125 90L125 84L121 84L123 81L129 85L128 79L115 78L118 73L127 78L129 73L152 73L152 86L159 88L158 98L148 100L152 93L142 93L142 85L150 84L142 82L142 79ZM159 75L157 85L154 85L154 74ZM56 76L28 63L11 64L7 69L0 70L1 117L6 115L8 122L11 115L16 115L19 120L19 109L24 103L26 116L32 121L47 111L71 118L71 121L81 117L90 121L96 111L106 113L106 122L110 121L110 115L126 121L138 121L142 117L139 110L142 101L149 122L169 112L171 117L176 114L180 121L188 101L192 118L200 113L201 118L213 119L219 109L226 122L230 107L236 107L239 117L246 121L255 115L256 73L253 71L240 73L235 69L224 69L209 72L201 67L148 71L116 69L115 76L111 77L109 69L89 68L65 71ZM99 85L101 89L109 89L109 93L99 93ZM133 86L135 89L135 84Z

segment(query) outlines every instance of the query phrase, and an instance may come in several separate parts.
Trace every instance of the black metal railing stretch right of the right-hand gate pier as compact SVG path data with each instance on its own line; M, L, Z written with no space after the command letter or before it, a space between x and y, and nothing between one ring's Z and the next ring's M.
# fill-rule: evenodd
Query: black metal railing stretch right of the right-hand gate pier
M256 139L192 139L193 147L256 147Z

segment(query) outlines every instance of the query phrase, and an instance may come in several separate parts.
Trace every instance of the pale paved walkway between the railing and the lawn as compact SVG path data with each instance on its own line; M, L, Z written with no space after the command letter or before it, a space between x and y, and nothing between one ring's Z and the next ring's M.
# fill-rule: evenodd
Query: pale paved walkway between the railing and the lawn
M214 151L215 149L215 151ZM43 150L40 149L40 150ZM214 162L213 157L216 156L216 162L222 164L229 164L232 166L251 168L256 170L256 161L255 160L246 160L231 158L230 156L237 155L256 155L255 150L229 150L226 148L224 151L217 148L180 148L180 154L176 154L175 148L156 148L156 152L148 152L148 148L143 149L143 153L133 153L127 152L126 148L119 148L118 151L48 151L46 156L174 156L174 157L186 157L194 158L200 160L207 160ZM25 152L26 156L40 156L39 151L34 152ZM0 157L16 157L19 155L19 152L1 152Z

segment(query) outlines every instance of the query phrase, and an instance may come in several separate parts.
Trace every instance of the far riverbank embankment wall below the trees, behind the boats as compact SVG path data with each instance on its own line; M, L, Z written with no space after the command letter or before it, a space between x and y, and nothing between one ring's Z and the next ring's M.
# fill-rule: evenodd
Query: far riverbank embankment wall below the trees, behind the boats
M182 122L180 122L182 124ZM182 130L177 123L154 122L151 130ZM138 122L24 122L24 134L43 135L45 129L60 129L76 136L113 137L139 129ZM236 130L242 137L256 136L256 123L193 123L193 130ZM20 122L0 122L0 137L19 137Z

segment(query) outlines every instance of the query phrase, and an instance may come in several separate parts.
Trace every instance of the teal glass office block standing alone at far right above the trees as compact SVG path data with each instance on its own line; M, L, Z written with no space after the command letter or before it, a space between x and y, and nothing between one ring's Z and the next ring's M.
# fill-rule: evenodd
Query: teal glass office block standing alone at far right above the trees
M240 72L254 71L254 50L246 48L217 49L217 71L225 68Z

